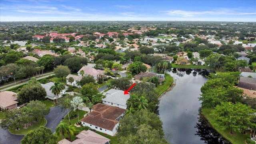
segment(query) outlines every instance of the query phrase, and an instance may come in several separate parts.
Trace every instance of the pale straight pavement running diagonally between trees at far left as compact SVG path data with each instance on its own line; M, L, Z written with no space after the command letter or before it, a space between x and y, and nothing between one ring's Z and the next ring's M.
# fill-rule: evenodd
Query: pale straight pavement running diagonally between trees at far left
M51 76L51 75L53 75L54 74L54 72L48 72L48 73L44 73L43 74L43 76L41 75L40 77L39 77L39 75L36 77L35 76L35 78L36 78L36 80L39 80L39 79L42 79L42 78L46 78L46 77L48 77L48 76ZM31 77L32 78L32 77ZM30 78L30 79L31 79ZM26 81L27 80L27 81ZM20 86L20 85L22 85L22 84L26 84L26 83L28 83L28 80L29 80L29 78L26 78L26 79L23 79L23 80L18 80L18 81L16 81L16 85L14 85L15 83L14 82L12 82L12 83L10 83L10 84L6 84L6 85L4 85L4 86L0 86L0 88L4 88L4 89L1 89L0 91L2 92L2 91L5 91L5 90L8 90L8 89L10 89L10 88L14 88L14 87L16 87L16 86ZM22 82L21 82L22 81ZM24 81L26 81L26 82L24 82ZM18 84L17 84L18 83ZM13 86L12 86L13 85Z

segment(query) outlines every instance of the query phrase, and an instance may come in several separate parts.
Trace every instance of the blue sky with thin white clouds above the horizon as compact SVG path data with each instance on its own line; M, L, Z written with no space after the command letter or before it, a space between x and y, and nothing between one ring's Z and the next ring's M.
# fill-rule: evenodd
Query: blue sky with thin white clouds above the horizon
M0 0L4 21L256 22L256 0Z

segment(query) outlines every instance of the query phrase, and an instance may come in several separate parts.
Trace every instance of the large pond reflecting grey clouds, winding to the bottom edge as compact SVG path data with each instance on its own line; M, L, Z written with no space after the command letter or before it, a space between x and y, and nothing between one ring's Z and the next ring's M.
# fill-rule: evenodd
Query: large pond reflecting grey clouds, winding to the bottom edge
M159 115L165 138L171 144L230 144L199 115L200 88L210 70L174 69L175 86L160 98Z

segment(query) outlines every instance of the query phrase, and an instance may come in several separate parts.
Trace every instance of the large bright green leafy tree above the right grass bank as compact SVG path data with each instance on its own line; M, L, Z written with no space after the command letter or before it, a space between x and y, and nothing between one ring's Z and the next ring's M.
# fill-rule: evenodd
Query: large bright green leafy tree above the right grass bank
M231 129L231 134L233 134L233 132L243 132L249 126L252 126L251 121L256 119L256 116L253 115L255 112L250 106L240 102L236 104L221 102L212 110L210 115L214 117L216 126L223 130Z

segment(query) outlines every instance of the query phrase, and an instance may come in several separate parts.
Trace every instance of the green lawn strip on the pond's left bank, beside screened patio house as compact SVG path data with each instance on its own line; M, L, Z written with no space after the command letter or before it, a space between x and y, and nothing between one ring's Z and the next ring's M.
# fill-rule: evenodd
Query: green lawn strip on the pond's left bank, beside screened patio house
M168 90L168 88L170 88L170 86L172 85L173 83L173 78L169 75L169 74L165 74L165 83L164 84L159 84L157 87L156 87L156 93L158 96L161 96L161 94L163 92L165 92L166 90Z

